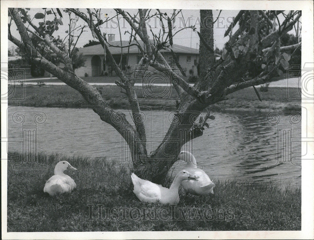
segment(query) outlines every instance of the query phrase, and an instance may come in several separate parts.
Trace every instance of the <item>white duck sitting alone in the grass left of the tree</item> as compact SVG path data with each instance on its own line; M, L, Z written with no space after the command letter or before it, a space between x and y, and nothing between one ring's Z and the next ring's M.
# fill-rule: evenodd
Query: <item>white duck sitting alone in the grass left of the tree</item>
M54 170L55 175L53 175L46 182L44 192L49 193L50 196L72 192L72 190L76 188L76 184L70 176L63 173L68 169L77 170L76 168L73 168L67 161L61 161L57 163Z

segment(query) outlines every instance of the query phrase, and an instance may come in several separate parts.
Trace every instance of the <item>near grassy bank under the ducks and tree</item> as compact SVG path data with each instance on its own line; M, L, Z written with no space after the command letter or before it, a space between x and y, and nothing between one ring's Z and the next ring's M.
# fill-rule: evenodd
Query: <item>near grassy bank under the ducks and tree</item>
M77 189L51 198L43 187L61 160L78 168L68 173ZM8 161L8 232L301 230L300 188L218 182L211 196L185 196L181 189L171 208L141 203L130 173L112 169L105 158L39 154L38 161L48 169L13 170L19 161Z

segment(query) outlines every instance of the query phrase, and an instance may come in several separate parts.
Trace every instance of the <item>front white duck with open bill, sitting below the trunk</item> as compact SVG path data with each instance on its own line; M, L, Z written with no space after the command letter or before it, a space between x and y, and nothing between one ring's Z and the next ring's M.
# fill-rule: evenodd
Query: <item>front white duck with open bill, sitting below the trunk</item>
M133 192L141 202L154 203L159 200L163 204L174 205L179 202L178 189L181 182L186 179L198 181L198 176L192 175L186 170L182 170L176 174L170 188L165 188L148 180L140 179L134 173L131 174L131 179L134 185Z

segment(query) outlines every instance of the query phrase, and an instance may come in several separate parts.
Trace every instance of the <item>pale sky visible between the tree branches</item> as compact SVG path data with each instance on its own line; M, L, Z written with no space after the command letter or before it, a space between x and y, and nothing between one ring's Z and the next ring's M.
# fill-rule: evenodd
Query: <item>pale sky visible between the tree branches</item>
M47 8L46 10L49 10L49 8ZM138 9L124 9L124 10L129 12L132 16L136 14L138 11ZM56 12L56 9L54 9L54 11ZM85 9L82 9L81 11L86 12ZM160 9L160 11L162 13L167 13L168 16L171 16L173 13L173 9ZM42 8L32 8L28 11L28 14L30 14L31 17L33 17L38 12L44 13L45 10ZM156 12L157 12L156 9L152 9L150 14L154 14ZM180 29L184 28L184 26L190 26L190 25L195 25L195 27L199 31L199 27L200 27L199 10L182 10L181 13L177 15L176 21L173 24L173 34L175 34ZM213 18L214 20L217 19L217 21L214 24L214 47L218 47L219 49L222 49L224 44L228 41L229 39L228 36L224 38L225 30L228 28L228 26L232 22L233 17L235 17L237 13L238 13L238 10L236 11L235 10L223 10L220 13L219 18L217 19L219 10L213 10ZM63 18L62 18L63 25L59 25L59 30L56 31L53 35L54 37L57 37L59 35L60 38L64 39L67 36L66 30L68 30L69 28L68 26L69 15L68 13L64 13L63 11L62 11L62 15L63 15ZM116 15L116 12L113 9L101 9L101 16L103 16L101 19L106 19L106 17L111 18L111 17L114 17L115 15ZM53 19L53 17L54 17L53 14L47 15L46 20L47 19L51 20ZM72 14L71 18L73 17L74 15ZM279 21L281 22L283 19L284 18L282 14L279 14ZM33 19L32 21L38 26L38 23L41 22L42 19ZM159 33L161 29L161 24L160 24L160 20L157 17L153 17L146 23L148 25L147 26L148 31L150 29L149 28L150 26L154 33ZM167 22L164 20L163 23L167 31ZM80 25L83 26L84 24L85 24L84 21L82 19L79 19L76 26L80 26ZM121 17L119 19L119 24L120 24L122 40L129 40L130 35L125 33L126 31L129 31L129 32L131 31L129 24ZM236 29L238 29L238 24L235 26L233 31L236 31ZM78 39L78 42L76 45L77 47L83 47L83 45L88 43L89 40L94 40L90 32L90 29L85 28L85 30L86 31L83 32L81 37ZM115 34L115 40L120 40L118 20L116 18L103 24L101 31L102 33ZM18 32L16 31L16 26L14 23L11 26L11 32L16 38L20 39L20 36ZM294 33L294 32L295 30L290 31L290 33ZM150 38L152 39L152 34L150 32L149 34L150 34ZM76 33L76 35L78 35L78 33ZM196 32L192 31L192 29L183 29L173 37L173 43L198 49L199 37ZM11 47L14 46L14 44L9 41L8 46L9 46L9 49L11 49Z

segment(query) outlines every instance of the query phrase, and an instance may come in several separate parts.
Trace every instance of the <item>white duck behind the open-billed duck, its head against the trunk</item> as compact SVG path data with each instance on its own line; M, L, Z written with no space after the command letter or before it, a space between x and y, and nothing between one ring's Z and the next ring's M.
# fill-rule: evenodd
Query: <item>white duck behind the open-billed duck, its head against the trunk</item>
M184 166L185 169L188 169L190 173L199 176L197 182L190 180L182 181L181 185L187 193L193 195L208 195L209 193L214 194L213 189L215 184L202 169L197 168L195 157L191 152L181 151L178 159L187 162Z

